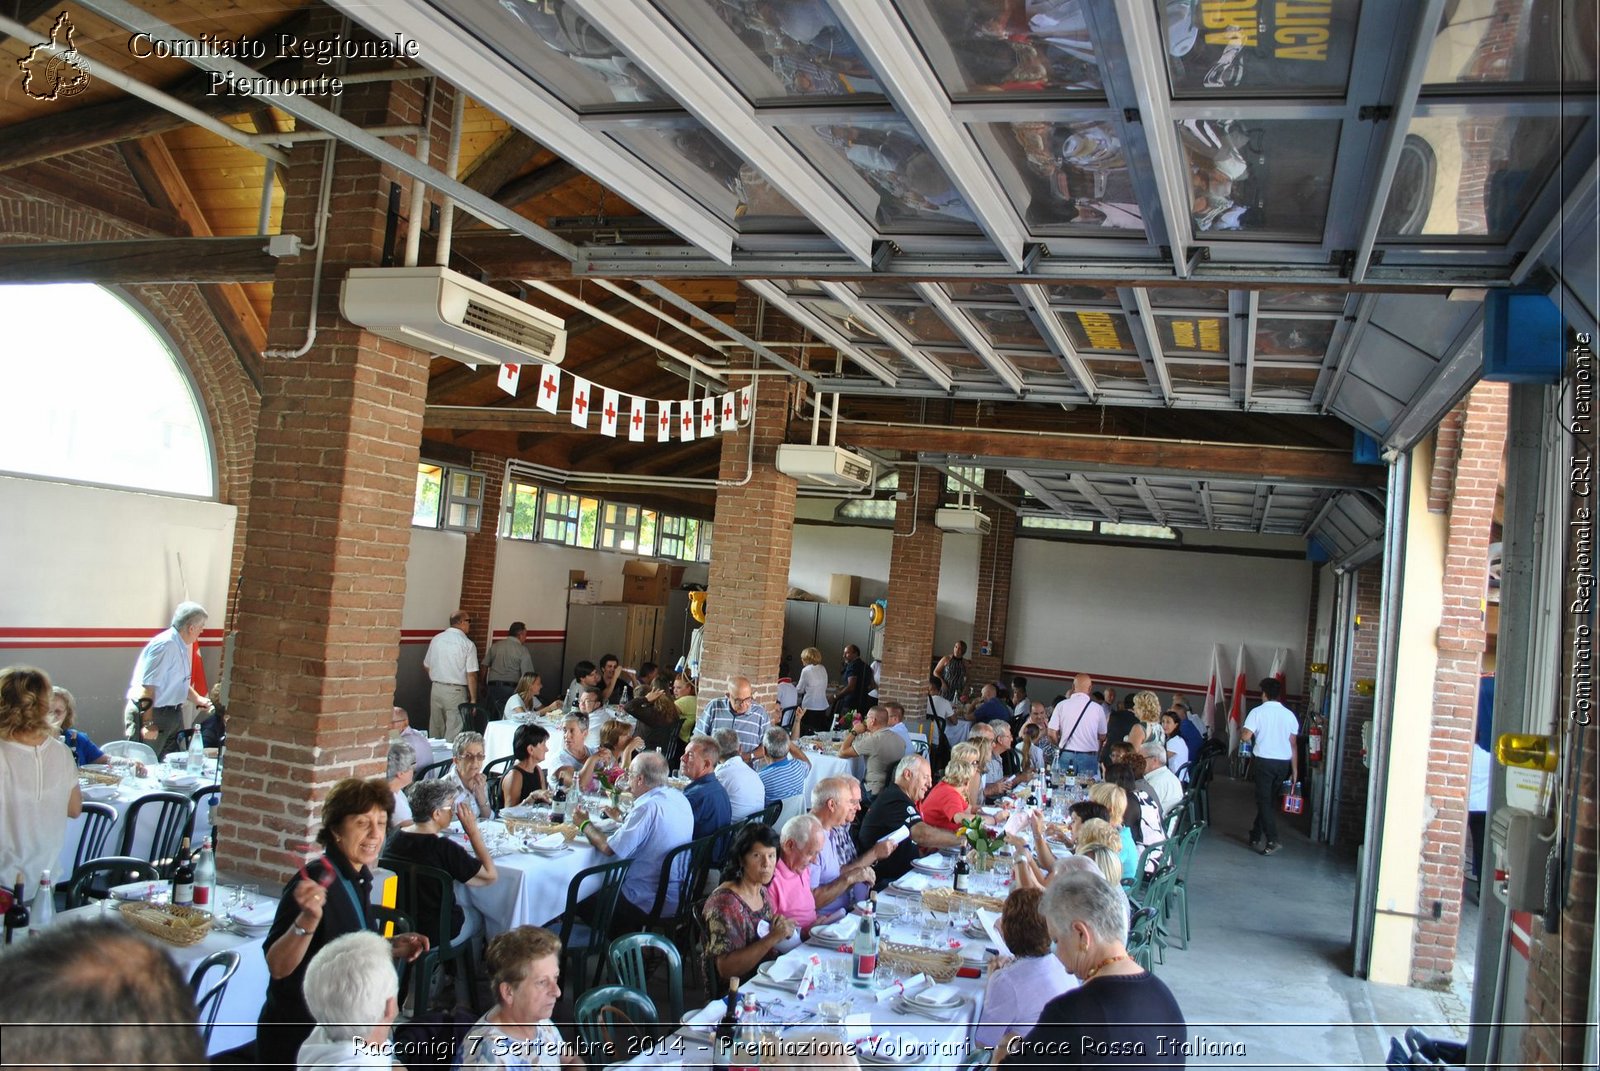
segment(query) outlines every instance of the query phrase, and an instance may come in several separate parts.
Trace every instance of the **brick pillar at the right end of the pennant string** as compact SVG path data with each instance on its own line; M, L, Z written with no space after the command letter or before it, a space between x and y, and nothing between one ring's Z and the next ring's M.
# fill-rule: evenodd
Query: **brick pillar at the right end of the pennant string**
M739 296L739 311L746 298ZM742 317L741 317L742 319ZM750 317L754 327L754 317ZM747 330L741 323L741 330ZM746 386L730 376L734 389ZM794 546L795 482L773 467L787 432L786 381L762 376L750 424L722 440L720 479L741 482L717 490L712 517L710 576L706 594L706 644L701 655L699 704L725 695L733 677L749 677L758 703L778 700L778 666L784 658L784 600ZM755 435L754 472L746 461Z

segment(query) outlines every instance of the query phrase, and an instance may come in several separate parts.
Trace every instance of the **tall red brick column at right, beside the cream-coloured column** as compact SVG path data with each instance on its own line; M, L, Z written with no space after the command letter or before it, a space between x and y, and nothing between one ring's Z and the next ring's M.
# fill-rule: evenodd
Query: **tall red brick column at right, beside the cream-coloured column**
M1490 527L1506 453L1504 383L1480 383L1466 402L1454 451L1454 488L1445 549L1445 605L1434 674L1434 732L1427 760L1427 815L1422 832L1422 890L1411 941L1413 985L1448 983L1461 929L1462 860L1467 840L1467 780L1483 669ZM1434 919L1434 903L1443 913Z

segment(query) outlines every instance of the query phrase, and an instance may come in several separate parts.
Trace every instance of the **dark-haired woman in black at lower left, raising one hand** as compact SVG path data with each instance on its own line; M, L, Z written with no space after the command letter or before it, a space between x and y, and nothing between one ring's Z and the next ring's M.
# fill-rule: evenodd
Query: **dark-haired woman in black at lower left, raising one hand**
M304 864L283 887L278 913L262 946L267 956L267 1001L256 1023L256 1061L294 1066L314 1020L301 985L312 957L336 937L370 930L373 871L394 813L394 792L382 778L346 778L322 800L317 842L322 858ZM389 941L395 959L413 961L427 951L421 933L397 933Z

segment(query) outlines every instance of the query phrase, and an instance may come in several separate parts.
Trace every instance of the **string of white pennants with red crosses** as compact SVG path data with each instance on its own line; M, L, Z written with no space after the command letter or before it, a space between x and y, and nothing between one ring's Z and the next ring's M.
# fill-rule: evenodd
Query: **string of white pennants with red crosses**
M566 400L566 413L573 426L589 431L589 418L600 421L600 434L616 439L626 434L630 442L645 442L654 435L656 442L691 442L694 439L710 439L718 431L738 431L750 423L750 403L754 394L750 387L728 391L722 395L680 400L642 399L635 394L622 394L589 383L582 376L562 373L554 365L528 365L539 370L539 386L534 405L546 413L562 411L562 379L571 379L571 392ZM517 384L522 379L523 365L501 365L499 387L506 394L517 397Z

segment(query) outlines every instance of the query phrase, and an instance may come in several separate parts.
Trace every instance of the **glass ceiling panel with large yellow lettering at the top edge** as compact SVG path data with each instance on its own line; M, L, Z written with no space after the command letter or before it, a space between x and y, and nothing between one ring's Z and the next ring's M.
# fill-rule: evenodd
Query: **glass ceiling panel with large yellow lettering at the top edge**
M1358 0L1155 0L1174 98L1344 96Z

